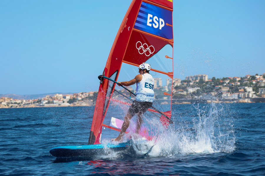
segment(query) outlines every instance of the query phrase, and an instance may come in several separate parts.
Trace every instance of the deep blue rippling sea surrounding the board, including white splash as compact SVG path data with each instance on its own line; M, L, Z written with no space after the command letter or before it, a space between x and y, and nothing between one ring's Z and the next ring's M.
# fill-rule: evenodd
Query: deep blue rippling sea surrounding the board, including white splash
M94 108L0 109L0 175L265 175L265 103L172 105L168 129L144 118L156 140L134 155L52 156L87 144ZM103 129L102 143L117 134Z

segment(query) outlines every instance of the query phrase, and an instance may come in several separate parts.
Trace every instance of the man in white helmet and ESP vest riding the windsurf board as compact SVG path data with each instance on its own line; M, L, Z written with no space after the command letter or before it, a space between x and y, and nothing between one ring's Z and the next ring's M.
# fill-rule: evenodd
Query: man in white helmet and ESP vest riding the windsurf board
M136 75L134 79L130 81L118 82L122 86L131 86L136 83L136 98L125 115L119 136L113 139L114 141L122 140L125 131L130 125L130 120L135 114L138 116L136 133L139 133L143 123L143 113L145 113L148 108L152 106L154 99L154 79L149 74L150 69L151 66L148 63L143 63L139 66L140 74Z

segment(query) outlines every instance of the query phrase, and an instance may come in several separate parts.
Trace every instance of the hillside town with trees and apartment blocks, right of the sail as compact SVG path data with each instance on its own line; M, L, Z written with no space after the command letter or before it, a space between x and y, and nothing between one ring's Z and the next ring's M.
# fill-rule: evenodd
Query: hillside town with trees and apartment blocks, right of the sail
M173 82L173 88L173 98L265 98L265 73L222 79L208 79L205 74L187 76L185 80Z

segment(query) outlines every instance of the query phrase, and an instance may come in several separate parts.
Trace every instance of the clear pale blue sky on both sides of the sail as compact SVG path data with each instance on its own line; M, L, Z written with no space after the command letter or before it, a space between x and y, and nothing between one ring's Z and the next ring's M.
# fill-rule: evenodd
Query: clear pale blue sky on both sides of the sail
M130 3L1 0L0 94L97 91ZM173 8L175 78L265 73L264 0L173 0Z

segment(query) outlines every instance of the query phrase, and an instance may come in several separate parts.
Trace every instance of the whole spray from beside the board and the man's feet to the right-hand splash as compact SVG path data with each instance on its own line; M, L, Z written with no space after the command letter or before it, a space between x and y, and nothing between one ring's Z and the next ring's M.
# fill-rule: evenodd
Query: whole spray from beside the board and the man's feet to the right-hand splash
M105 157L178 157L235 150L234 119L227 113L229 105L211 103L187 107L186 113L181 115L173 109L174 124L168 128L161 124L159 118L145 114L139 134L135 133L137 117L133 117L128 128L130 132L123 140L131 140L132 150L113 152L106 149L108 156Z

